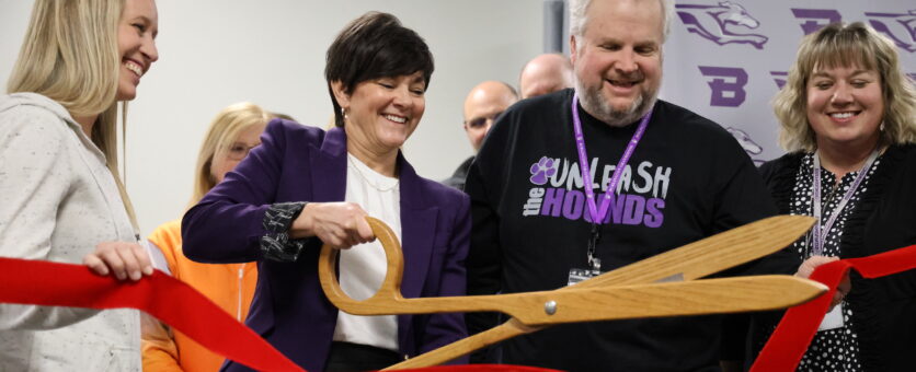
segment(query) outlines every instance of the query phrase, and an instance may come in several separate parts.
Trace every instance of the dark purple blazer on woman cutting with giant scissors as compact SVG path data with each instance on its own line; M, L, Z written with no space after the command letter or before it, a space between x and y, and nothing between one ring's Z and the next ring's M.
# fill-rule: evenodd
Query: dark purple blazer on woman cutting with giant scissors
M184 254L201 263L257 260L257 286L245 324L309 371L322 371L337 309L318 280L321 242L311 239L295 263L262 259L261 225L274 202L343 201L346 135L274 119L262 144L182 220ZM463 295L470 234L467 195L421 178L398 154L405 298ZM404 357L467 336L462 314L398 315ZM465 361L459 360L459 362ZM227 361L222 370L249 371Z

